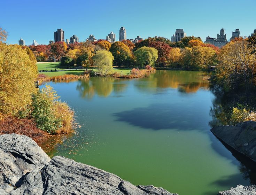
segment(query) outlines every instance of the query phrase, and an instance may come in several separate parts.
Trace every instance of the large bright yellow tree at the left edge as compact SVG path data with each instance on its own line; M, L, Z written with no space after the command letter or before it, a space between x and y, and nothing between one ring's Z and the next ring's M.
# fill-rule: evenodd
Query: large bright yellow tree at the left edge
M25 110L31 103L31 94L36 91L34 81L37 78L37 67L27 51L29 50L0 43L0 112L2 115L16 115L18 111Z

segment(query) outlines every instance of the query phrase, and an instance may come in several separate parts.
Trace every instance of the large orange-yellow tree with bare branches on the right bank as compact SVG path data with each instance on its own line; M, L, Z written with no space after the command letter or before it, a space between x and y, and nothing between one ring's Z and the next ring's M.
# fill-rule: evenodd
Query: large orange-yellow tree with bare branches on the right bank
M231 41L218 54L216 81L226 90L243 87L249 89L255 81L256 59L247 39Z

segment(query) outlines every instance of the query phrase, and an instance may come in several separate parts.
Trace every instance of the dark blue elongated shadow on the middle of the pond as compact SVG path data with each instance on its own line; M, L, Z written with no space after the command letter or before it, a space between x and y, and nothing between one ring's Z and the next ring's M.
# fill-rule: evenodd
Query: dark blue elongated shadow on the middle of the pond
M156 103L148 107L117 112L113 116L117 121L146 129L205 130L204 127L198 126L204 120L198 117L200 109L188 111L193 109L193 106L192 104L190 107L180 107L178 104Z

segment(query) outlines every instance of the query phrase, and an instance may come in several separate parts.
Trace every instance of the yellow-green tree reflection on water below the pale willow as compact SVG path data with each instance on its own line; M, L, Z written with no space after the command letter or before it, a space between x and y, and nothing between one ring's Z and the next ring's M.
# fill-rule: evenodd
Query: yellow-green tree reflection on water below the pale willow
M82 98L92 99L95 94L107 97L114 91L116 94L125 90L126 84L113 77L93 77L78 81L76 89Z

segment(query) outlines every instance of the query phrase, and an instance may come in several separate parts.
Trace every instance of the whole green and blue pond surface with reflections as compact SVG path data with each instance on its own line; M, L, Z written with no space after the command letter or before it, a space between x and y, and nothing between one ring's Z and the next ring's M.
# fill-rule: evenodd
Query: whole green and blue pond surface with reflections
M141 79L48 83L75 110L81 125L48 155L179 195L217 195L255 183L254 164L231 153L210 132L216 97L204 76L165 70Z

